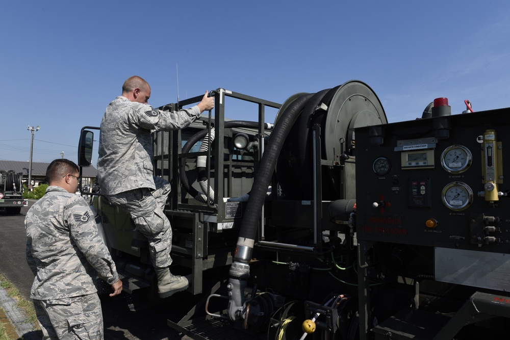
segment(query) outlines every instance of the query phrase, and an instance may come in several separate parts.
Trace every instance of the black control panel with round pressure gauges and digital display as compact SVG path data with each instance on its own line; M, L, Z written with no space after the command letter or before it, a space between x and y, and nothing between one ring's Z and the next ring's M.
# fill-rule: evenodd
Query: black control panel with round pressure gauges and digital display
M508 130L510 109L356 128L358 239L510 253Z

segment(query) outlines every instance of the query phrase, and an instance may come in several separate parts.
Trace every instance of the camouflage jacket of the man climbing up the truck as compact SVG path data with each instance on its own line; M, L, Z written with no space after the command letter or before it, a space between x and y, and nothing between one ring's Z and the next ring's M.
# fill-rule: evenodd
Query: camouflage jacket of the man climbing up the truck
M152 179L151 130L180 129L198 117L198 106L170 112L123 96L115 98L101 120L97 160L101 192L115 195L139 188L156 189Z

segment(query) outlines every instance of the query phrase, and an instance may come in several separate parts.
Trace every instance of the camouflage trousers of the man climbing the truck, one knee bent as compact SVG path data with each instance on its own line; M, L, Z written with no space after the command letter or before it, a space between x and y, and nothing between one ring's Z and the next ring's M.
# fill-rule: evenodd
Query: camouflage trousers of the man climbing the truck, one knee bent
M155 191L148 188L124 191L108 196L108 201L131 215L138 231L149 241L152 265L164 268L172 264L172 228L163 213L171 188L161 177L154 177L154 182Z

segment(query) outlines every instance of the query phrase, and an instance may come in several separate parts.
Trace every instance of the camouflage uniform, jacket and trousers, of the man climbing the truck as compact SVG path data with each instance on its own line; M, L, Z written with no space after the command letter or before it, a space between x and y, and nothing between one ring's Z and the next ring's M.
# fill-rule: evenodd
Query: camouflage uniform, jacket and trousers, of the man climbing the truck
M156 268L172 263L172 230L163 213L170 184L152 175L151 130L184 128L198 117L198 106L169 112L118 96L108 105L101 121L97 160L101 191L111 204L129 213L137 229L147 237Z

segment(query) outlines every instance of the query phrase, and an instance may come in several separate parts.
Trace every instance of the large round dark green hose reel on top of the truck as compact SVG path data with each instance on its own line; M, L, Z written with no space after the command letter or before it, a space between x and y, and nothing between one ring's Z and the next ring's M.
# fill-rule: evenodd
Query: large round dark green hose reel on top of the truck
M288 99L292 102L303 94ZM287 103L287 102L286 102ZM275 125L289 103L278 111ZM365 83L349 81L333 89L314 94L303 107L282 146L276 165L276 176L288 199L313 198L312 130L320 126L322 194L325 200L343 198L337 167L346 155L353 155L353 128L387 123L386 114L376 94Z

